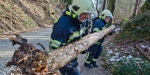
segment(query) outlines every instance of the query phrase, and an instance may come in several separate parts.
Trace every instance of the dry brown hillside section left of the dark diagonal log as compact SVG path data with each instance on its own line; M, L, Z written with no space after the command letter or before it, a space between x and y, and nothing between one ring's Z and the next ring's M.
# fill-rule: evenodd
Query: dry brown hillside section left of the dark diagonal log
M0 34L13 34L36 27L37 24L12 1L0 1Z

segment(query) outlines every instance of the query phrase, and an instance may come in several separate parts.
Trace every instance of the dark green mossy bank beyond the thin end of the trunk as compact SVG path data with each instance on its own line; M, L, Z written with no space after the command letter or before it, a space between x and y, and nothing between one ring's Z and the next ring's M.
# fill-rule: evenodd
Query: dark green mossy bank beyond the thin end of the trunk
M150 11L140 13L130 18L125 24L123 30L115 36L116 41L142 42L150 38Z

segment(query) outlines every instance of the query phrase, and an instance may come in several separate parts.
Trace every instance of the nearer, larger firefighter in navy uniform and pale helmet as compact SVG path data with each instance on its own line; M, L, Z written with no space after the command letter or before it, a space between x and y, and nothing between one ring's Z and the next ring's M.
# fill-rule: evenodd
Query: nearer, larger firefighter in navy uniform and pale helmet
M84 21L94 12L92 0L73 0L52 28L50 49L55 50L81 39L85 30ZM80 75L77 66L77 58L74 58L59 71L62 75Z

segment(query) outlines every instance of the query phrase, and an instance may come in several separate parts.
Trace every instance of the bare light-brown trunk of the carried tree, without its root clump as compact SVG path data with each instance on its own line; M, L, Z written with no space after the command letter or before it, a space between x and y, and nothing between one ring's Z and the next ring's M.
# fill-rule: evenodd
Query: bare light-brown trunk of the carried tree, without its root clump
M67 46L56 49L53 52L49 53L49 58L47 59L48 66L51 70L57 70L67 64L69 61L74 59L82 51L88 49L91 45L96 43L99 39L106 36L111 30L115 28L114 25L96 32L90 35L87 35L75 43L69 44Z

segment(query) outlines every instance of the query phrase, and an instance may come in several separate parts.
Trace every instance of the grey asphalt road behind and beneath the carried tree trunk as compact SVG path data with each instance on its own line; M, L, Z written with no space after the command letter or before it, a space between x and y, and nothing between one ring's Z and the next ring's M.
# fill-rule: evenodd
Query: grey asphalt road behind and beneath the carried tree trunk
M44 28L40 30L35 30L27 33L20 34L23 37L26 37L28 43L33 44L36 48L41 49L41 47L36 46L37 43L41 43L48 50L49 39L50 39L51 28ZM18 48L18 45L12 46L12 43L9 41L9 37L0 38L0 75L6 71L5 64L7 61L11 60L13 52ZM88 69L83 66L85 54L80 54L78 56L79 69L81 75L110 75L107 73L103 67L100 65L100 60L98 61L99 67Z

